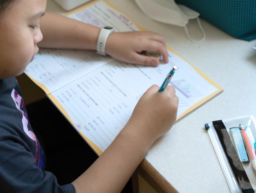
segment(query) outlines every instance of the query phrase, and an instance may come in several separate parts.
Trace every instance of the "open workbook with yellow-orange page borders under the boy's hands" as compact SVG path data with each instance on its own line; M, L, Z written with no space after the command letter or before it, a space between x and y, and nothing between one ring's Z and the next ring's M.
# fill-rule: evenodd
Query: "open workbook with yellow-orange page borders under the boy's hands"
M105 0L67 16L99 27L112 26L115 31L144 30ZM40 49L25 73L101 155L127 123L141 95L153 84L161 86L174 65L178 69L170 84L179 98L177 120L223 91L170 48L168 53L168 64L149 67L95 51Z

